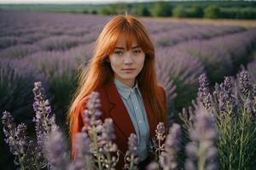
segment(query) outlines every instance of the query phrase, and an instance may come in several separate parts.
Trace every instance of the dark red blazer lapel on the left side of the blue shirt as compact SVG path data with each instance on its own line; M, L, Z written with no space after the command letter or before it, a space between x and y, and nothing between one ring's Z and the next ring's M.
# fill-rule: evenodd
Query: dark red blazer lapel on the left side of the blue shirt
M119 127L119 130L125 134L126 138L129 138L131 133L136 134L129 113L126 110L125 104L123 103L113 80L106 86L106 93L108 95L108 102L111 104L108 112L113 119L113 122Z

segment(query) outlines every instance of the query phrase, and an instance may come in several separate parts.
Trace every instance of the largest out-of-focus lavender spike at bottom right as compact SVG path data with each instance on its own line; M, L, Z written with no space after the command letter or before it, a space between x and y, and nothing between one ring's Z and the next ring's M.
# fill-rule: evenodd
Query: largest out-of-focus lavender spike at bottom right
M196 114L194 128L190 130L191 142L186 145L186 170L218 169L218 150L214 146L218 132L214 127L213 116L201 107Z

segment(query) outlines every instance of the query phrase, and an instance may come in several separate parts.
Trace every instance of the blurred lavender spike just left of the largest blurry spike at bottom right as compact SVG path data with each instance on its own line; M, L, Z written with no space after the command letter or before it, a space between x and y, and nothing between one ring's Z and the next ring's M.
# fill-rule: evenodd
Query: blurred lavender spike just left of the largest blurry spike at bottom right
M177 151L180 150L181 127L174 123L166 137L165 150L160 156L160 165L164 170L177 169Z

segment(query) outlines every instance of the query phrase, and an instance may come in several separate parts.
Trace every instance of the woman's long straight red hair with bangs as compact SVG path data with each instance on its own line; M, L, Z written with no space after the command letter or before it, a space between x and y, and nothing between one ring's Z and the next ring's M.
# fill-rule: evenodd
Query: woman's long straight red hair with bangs
M106 85L113 78L113 71L106 61L108 54L112 54L119 37L126 37L126 48L131 48L132 38L135 37L138 46L145 53L143 70L137 76L138 86L141 93L146 97L145 105L148 105L159 122L165 121L165 105L154 68L154 45L148 32L141 22L129 15L117 15L104 27L96 40L93 57L89 65L79 74L79 87L77 88L67 120L69 121L70 133L73 137L73 122L79 115L81 101L92 91Z

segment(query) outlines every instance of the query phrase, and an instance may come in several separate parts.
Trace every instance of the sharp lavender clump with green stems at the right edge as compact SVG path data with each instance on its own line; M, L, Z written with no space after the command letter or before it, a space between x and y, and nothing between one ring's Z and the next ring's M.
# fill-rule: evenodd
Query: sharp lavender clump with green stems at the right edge
M225 77L211 93L207 78L200 77L198 98L193 108L180 113L184 129L195 124L196 110L203 105L215 117L218 129L220 169L253 169L256 160L256 93L247 71L237 79ZM189 141L188 141L189 142Z

